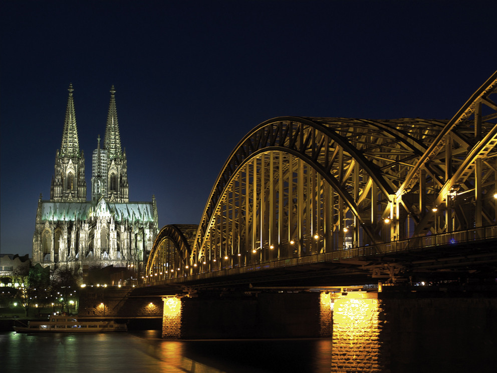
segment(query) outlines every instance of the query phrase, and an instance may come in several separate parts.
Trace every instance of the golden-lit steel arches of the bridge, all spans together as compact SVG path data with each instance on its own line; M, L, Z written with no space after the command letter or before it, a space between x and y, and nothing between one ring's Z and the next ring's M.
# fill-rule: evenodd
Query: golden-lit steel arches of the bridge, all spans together
M279 117L260 124L229 155L200 224L160 231L146 277L358 247L374 253L495 227L496 93L497 72L450 121Z

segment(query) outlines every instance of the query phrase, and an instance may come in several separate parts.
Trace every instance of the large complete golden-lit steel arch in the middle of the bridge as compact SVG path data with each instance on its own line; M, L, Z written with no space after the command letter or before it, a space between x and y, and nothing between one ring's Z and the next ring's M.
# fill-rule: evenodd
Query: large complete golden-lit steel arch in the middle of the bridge
M399 231L384 223L393 218L395 191L444 124L301 117L262 123L221 170L192 262L247 265L389 241Z

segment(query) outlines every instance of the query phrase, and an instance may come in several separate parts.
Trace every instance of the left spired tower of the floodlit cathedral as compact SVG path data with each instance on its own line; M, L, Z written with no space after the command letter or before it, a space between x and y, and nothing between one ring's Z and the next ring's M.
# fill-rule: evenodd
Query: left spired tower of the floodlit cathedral
M55 174L50 199L58 202L86 201L85 158L79 150L78 128L74 110L73 85L69 85L66 120L61 148L55 156Z

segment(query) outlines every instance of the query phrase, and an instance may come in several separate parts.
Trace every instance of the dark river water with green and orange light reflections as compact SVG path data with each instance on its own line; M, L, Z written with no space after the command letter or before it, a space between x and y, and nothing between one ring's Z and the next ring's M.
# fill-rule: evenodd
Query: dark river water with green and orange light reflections
M0 333L0 370L30 372L329 373L331 339L200 340L135 333Z

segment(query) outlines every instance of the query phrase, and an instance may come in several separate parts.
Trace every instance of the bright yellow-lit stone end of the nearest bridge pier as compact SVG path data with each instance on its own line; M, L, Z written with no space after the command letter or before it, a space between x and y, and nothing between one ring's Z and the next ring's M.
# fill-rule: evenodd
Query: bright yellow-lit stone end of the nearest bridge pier
M340 293L339 293L340 294ZM334 295L332 372L389 372L389 330L377 293Z

